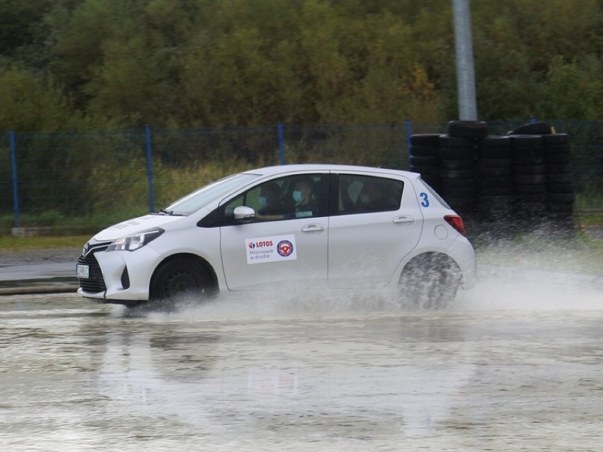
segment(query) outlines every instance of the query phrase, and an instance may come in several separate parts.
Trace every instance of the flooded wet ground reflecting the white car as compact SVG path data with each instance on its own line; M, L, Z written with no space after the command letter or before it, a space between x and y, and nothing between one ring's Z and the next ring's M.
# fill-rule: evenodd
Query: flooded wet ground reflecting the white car
M0 449L598 451L603 309L578 295L477 309L478 287L437 312L242 298L139 317L3 297Z

